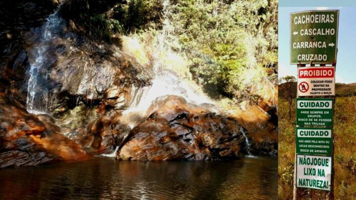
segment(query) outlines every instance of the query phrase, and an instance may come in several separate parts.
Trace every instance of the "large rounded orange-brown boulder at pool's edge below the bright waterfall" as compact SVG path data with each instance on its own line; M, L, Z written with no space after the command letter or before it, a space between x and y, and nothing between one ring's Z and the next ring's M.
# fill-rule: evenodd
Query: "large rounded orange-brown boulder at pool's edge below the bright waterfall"
M189 104L179 96L159 99L147 120L130 132L120 160L226 160L246 151L237 121Z

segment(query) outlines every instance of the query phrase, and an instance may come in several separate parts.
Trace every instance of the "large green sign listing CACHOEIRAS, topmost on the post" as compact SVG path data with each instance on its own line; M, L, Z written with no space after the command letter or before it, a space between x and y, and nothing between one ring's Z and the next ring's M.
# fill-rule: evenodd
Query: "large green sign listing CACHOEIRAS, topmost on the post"
M291 64L336 63L339 10L291 13Z

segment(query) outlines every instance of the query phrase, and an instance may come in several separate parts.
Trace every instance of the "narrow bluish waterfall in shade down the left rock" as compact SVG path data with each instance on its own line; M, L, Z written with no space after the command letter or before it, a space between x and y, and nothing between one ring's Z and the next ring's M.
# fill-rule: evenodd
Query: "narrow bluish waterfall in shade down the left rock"
M35 44L34 62L30 62L26 99L26 107L30 113L49 113L54 109L57 101L56 95L50 93L49 89L42 85L45 84L43 81L47 80L49 76L47 69L51 65L51 57L48 55L50 42L55 39L58 29L64 21L59 17L58 10L51 14L43 24L40 41Z

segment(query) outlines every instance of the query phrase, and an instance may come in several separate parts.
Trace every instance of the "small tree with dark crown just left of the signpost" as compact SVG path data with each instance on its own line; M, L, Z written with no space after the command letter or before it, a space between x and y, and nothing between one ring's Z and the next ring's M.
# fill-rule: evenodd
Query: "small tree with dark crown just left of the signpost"
M289 104L289 119L291 119L291 110L293 105L294 93L296 90L294 82L296 82L296 78L293 76L286 76L279 79L279 95L281 95ZM282 84L283 83L283 84Z

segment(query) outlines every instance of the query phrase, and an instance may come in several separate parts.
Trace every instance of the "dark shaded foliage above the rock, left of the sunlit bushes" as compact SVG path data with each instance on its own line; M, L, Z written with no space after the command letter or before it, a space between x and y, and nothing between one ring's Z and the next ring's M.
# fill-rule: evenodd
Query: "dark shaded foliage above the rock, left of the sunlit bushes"
M162 8L160 0L72 0L62 14L75 23L75 31L110 42L116 35L162 28Z

